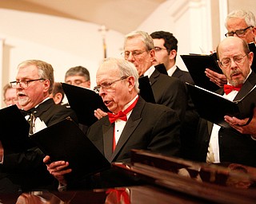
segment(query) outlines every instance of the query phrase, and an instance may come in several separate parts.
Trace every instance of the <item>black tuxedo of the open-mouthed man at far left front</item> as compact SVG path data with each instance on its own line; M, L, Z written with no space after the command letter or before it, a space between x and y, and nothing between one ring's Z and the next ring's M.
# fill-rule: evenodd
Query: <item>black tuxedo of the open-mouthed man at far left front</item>
M34 116L44 121L46 126L56 124L68 116L75 122L78 121L72 109L56 105L52 99L39 104L38 108L34 110ZM54 179L46 170L45 164L42 163L44 156L37 147L15 154L5 150L3 164L0 166L0 178L9 179L14 185L20 186L22 190L47 188ZM2 180L0 180L0 191L2 184Z

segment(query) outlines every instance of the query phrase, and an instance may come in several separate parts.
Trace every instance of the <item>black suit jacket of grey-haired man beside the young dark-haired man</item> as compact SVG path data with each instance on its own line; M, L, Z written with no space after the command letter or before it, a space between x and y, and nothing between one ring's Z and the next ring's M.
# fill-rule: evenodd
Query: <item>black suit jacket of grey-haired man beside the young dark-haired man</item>
M150 84L155 102L174 109L179 119L183 121L187 106L185 84L175 77L159 73L158 70L154 70L154 73L151 74Z

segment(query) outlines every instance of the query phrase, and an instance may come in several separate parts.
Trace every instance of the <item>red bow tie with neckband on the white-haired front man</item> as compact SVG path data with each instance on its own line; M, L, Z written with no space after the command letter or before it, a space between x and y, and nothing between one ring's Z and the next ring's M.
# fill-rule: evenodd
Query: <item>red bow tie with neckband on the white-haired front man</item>
M124 121L127 121L127 117L126 117L126 114L128 112L130 112L134 106L137 104L137 101L138 101L138 97L136 100L134 100L134 103L130 104L130 106L128 108L126 108L126 110L124 110L123 112L120 111L118 112L118 114L113 114L111 112L108 112L107 115L109 116L109 120L110 120L110 124L113 124L115 120L124 120ZM115 136L113 134L113 146L112 146L112 150L114 151L115 149L115 146L116 146L116 143L115 143Z

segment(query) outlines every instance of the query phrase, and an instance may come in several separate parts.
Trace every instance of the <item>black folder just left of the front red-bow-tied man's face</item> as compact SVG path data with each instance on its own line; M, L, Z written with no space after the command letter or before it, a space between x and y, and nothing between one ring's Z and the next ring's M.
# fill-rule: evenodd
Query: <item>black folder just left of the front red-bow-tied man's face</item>
M89 88L82 88L66 83L62 83L62 88L69 101L70 108L74 110L78 116L80 124L90 126L98 119L94 116L94 110L102 109L104 112L109 112L106 105L102 101L102 97Z

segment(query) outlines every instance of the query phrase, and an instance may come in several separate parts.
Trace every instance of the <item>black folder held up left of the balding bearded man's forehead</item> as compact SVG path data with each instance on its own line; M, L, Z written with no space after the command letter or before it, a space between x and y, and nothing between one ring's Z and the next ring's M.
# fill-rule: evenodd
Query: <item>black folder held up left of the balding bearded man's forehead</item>
M206 88L212 92L218 90L218 85L210 81L206 77L206 68L209 68L217 73L222 73L222 69L219 68L217 63L216 53L206 55L206 54L189 54L181 55L186 68L188 69L194 84Z

